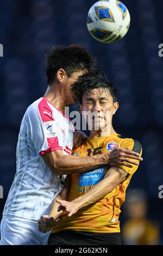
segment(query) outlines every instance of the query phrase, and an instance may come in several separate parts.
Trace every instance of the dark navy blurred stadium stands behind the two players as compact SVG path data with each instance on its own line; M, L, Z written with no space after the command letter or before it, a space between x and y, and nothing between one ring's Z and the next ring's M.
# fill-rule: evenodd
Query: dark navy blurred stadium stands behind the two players
M16 170L16 143L26 108L45 93L44 54L55 44L80 44L97 57L120 91L120 109L114 126L121 135L143 145L143 163L129 188L146 192L147 218L156 223L163 240L163 44L159 0L123 0L131 15L128 34L105 45L91 38L86 15L95 0L5 0L0 9L0 214ZM125 210L121 225L126 221ZM1 218L0 216L0 218Z

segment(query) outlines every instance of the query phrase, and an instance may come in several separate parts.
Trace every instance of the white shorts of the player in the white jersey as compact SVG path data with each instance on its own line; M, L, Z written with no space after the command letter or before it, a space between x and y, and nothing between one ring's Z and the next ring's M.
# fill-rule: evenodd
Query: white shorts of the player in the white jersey
M38 230L37 221L7 216L1 221L0 245L46 245L49 234Z

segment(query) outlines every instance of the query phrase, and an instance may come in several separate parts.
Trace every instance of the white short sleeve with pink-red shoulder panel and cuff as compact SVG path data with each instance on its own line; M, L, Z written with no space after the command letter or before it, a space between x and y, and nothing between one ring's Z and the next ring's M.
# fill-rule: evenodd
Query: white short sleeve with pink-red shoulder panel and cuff
M63 138L58 123L54 120L52 109L43 101L27 115L29 136L37 154L62 150Z

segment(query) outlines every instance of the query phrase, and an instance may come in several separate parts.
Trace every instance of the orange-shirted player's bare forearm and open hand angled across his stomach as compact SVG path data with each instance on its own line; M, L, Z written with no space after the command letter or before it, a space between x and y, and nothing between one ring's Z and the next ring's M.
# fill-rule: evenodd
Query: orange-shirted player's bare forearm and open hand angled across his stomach
M72 216L84 206L96 203L106 194L111 193L114 188L127 178L128 173L119 167L111 167L105 174L104 179L93 186L87 193L83 194L71 202L57 199L57 202L65 207L69 212L68 216Z

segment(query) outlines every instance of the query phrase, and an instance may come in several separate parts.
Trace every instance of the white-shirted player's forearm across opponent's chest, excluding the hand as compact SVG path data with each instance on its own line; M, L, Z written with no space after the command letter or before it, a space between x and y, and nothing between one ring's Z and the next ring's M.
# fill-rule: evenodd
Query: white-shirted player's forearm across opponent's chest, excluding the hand
M101 154L95 156L65 156L54 163L54 172L58 175L82 173L86 170L95 169L109 163L109 154Z

